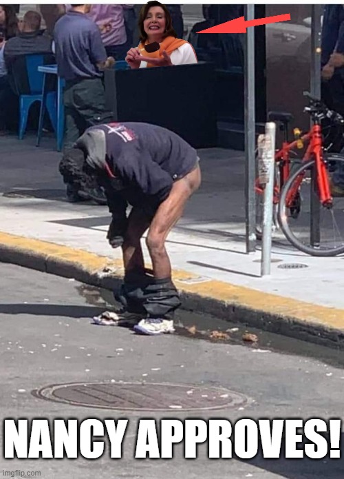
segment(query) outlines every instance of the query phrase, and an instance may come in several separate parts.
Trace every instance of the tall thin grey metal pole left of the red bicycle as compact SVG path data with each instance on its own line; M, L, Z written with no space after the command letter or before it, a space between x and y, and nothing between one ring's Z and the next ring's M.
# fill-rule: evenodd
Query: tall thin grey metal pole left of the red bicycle
M255 6L245 6L245 19L255 19ZM255 29L248 28L245 34L245 215L246 253L255 251Z

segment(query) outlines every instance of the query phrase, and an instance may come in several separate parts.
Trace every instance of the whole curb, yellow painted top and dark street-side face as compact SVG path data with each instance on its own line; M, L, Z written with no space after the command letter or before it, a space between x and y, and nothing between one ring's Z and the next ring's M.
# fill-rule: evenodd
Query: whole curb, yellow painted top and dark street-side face
M117 289L122 261L80 249L0 232L0 262ZM344 310L305 303L175 270L173 281L185 310L203 312L230 323L344 349Z

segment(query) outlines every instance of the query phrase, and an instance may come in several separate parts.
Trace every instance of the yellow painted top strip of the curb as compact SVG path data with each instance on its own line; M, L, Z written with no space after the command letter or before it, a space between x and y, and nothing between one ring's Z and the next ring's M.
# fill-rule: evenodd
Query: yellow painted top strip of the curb
M107 256L0 232L0 261L3 249L21 252L25 256L39 255L47 261L69 263L90 274L100 274L109 270L115 276L122 276L123 272L122 261L111 260ZM197 281L198 279L200 281ZM222 281L204 281L197 275L182 270L173 272L173 281L184 294L215 300L222 305L246 308L276 318L290 318L304 324L344 329L343 309L314 305Z

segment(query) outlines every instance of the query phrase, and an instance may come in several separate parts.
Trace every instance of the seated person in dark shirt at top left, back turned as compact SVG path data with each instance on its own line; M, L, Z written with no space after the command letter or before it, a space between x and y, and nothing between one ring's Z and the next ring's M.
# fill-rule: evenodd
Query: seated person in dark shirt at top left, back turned
M41 32L41 15L39 12L28 11L23 18L23 29L17 35L6 42L3 52L8 71L11 71L12 63L27 54L52 53L52 41Z

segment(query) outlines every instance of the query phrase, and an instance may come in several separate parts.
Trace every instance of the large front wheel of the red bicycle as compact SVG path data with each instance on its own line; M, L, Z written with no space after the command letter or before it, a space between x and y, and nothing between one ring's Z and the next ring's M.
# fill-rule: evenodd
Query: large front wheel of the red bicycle
M334 163L344 169L344 157L330 156L325 159L327 174L328 165ZM279 224L301 252L312 256L344 253L344 197L333 198L330 207L321 204L314 159L303 163L286 181L279 202Z

